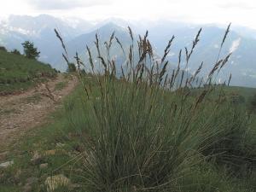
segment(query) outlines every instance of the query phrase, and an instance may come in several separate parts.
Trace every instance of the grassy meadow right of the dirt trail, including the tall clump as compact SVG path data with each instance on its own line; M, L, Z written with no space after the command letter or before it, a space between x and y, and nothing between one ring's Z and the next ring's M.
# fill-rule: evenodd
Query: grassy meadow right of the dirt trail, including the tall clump
M148 32L136 42L129 28L130 49L118 43L126 58L120 67L109 55L114 33L104 43L107 55L96 35L99 60L90 48L88 63L76 55L79 86L15 144L0 191L255 191L255 113L244 104L255 90L228 87L229 77L214 84L229 55L218 57L207 79L201 67L187 73L200 34L184 51L185 67L180 54L172 72L166 55L173 38L155 60Z

